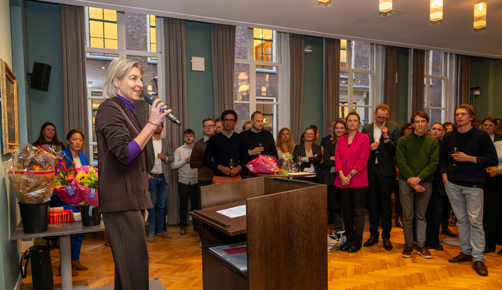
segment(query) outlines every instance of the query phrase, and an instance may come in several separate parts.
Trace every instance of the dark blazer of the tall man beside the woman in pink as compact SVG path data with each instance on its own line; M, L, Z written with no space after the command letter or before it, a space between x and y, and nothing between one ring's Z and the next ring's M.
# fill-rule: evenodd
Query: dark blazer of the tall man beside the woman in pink
M374 142L373 136L373 123L369 123L366 126L362 127L362 132L369 137L369 144ZM368 172L372 172L375 166L375 159L378 157L378 167L380 168L380 173L384 176L396 176L396 166L394 163L394 156L396 156L396 145L398 144L399 138L399 126L386 121L384 126L387 127L389 136L389 141L387 143L384 142L384 138L380 138L380 146L378 150L380 153L374 153L374 151L369 151L369 159L368 164L366 165L366 169Z

